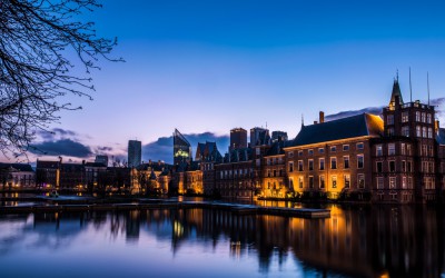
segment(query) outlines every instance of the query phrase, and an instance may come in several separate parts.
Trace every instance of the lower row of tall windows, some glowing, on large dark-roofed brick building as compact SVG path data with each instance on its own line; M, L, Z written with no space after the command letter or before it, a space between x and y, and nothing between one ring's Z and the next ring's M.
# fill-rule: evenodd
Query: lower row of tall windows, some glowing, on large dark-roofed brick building
M297 181L297 187L299 189L303 189L305 187L305 178L303 176L298 177L298 181ZM289 178L289 188L290 189L295 189L294 187L294 178ZM330 188L337 188L338 185L338 179L337 176L330 176ZM350 188L350 175L343 175L343 186L344 188L348 189ZM314 183L314 176L309 176L308 180L307 180L307 188L313 189L315 187ZM364 173L358 173L357 175L357 187L363 189L365 188L365 175ZM318 176L318 188L319 189L324 189L326 188L326 179L325 179L325 175L320 175Z

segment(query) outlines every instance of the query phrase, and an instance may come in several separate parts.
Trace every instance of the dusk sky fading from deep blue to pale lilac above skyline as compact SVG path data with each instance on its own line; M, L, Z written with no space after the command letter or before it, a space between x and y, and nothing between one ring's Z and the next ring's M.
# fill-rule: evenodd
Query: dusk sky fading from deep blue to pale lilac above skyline
M428 72L431 99L444 107L444 1L102 3L82 20L117 37L111 56L126 62L99 62L93 100L68 97L83 109L61 112L53 135L34 142L46 153L31 160L125 157L138 139L142 160L168 161L175 128L194 141L217 140L221 153L235 127L294 138L301 116L310 123L320 110L333 119L386 106L397 72L409 101L409 68L412 99L427 102Z

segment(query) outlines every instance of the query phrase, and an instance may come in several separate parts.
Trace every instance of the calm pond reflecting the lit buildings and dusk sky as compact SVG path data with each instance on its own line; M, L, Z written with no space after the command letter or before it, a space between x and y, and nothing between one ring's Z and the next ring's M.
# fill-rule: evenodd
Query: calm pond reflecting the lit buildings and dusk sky
M0 216L1 277L444 277L443 208Z

